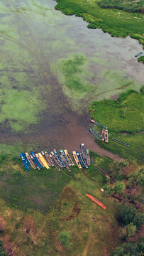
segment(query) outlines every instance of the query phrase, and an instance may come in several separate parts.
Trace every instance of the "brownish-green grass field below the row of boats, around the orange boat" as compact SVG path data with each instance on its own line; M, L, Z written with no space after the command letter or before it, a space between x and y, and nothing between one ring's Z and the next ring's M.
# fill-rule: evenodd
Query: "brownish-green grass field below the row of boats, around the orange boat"
M110 159L93 157L101 166L113 164ZM87 177L77 167L72 168L72 176L55 168L28 172L19 159L8 155L1 155L0 162L0 228L2 225L4 230L0 239L4 248L11 245L18 256L57 252L101 255L121 243L116 222L118 205L96 187L106 183L94 168L96 163L86 171ZM96 196L107 210L92 203L85 193ZM70 233L70 241L64 245L59 239L62 232Z

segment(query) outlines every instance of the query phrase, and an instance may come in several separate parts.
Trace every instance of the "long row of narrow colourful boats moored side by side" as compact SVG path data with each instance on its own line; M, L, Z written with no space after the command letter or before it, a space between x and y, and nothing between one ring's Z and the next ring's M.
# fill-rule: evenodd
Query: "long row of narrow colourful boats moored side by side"
M86 150L84 144L81 144L80 147L82 151L81 153L78 151L72 151L74 161L76 162L79 169L89 168L89 149ZM55 166L57 171L60 171L61 168L66 168L67 171L71 172L70 166L74 166L74 162L72 161L72 158L70 157L67 149L60 149L60 154L56 149L54 149L53 151L50 151L50 154L48 154L47 151L41 151L37 154L31 151L31 154L26 152L21 153L20 156L27 171L30 171L30 167L40 170L43 167L50 169L50 166Z

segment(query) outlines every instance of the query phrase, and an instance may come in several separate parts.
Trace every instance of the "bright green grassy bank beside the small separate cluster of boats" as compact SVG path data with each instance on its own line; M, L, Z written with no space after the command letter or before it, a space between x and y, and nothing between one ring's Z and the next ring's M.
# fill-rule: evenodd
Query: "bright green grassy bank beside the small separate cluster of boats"
M131 161L143 161L143 87L141 92L133 90L119 95L118 100L92 102L92 119L109 128L109 144L97 142L104 149L110 150ZM94 126L97 132L99 127ZM123 146L111 140L111 137L130 144Z

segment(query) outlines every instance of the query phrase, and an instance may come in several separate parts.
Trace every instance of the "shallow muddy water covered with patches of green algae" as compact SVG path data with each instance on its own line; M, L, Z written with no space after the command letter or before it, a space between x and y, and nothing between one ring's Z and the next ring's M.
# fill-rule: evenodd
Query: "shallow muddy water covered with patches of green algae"
M140 89L143 64L134 55L142 46L88 29L82 18L65 16L55 4L0 4L0 143L22 142L26 149L36 142L39 149L71 151L84 142L108 154L89 134L88 106Z

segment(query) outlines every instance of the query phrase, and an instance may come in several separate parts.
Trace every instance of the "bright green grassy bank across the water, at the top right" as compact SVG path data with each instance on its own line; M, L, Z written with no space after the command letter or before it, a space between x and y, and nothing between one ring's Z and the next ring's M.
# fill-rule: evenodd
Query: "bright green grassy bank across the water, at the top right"
M89 23L88 28L102 28L111 36L131 36L144 45L143 15L131 14L117 9L103 9L99 1L57 0L55 9L61 10L66 15L81 16Z

